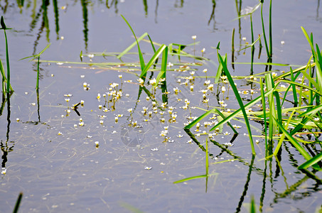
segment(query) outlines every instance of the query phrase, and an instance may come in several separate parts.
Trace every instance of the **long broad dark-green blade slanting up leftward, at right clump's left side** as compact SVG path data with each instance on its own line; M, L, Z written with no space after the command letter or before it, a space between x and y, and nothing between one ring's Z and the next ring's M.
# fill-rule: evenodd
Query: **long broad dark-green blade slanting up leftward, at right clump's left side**
M255 155L256 153L255 153L255 149L254 149L254 142L253 142L253 139L252 139L252 131L251 131L250 126L249 126L249 121L248 121L248 118L247 118L245 106L242 103L242 98L240 97L240 94L238 93L238 90L237 90L237 87L235 86L234 80L232 80L232 76L230 75L230 72L227 69L226 63L224 62L224 60L222 59L220 54L218 54L218 57L220 59L220 63L222 64L222 69L224 70L225 75L227 76L227 80L230 82L230 87L232 87L232 90L233 90L233 92L235 94L237 102L240 105L240 109L242 109L242 114L244 115L245 124L247 126L247 131L248 131L248 135L249 135L250 146L252 147L253 155Z

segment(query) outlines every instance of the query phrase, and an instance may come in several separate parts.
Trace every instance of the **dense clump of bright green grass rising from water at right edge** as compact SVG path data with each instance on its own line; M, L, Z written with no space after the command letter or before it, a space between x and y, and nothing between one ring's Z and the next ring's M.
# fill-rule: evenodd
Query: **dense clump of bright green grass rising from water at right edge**
M290 71L282 75L272 72L264 72L262 76L258 75L260 84L261 95L254 98L252 101L244 104L240 98L240 94L237 92L234 80L227 70L227 61L218 53L220 60L220 66L222 70L218 72L224 72L227 76L227 80L230 82L230 86L235 94L237 102L240 104L240 109L235 110L225 119L215 124L210 131L217 129L234 119L236 116L243 115L247 131L249 135L249 141L251 142L252 153L255 154L254 145L252 143L252 133L248 122L249 114L246 113L245 109L252 107L259 101L262 101L262 111L252 112L255 116L255 120L260 121L264 126L264 137L267 148L267 158L271 158L272 155L277 155L281 148L281 143L284 139L287 139L297 151L306 159L306 162L299 166L299 169L305 170L308 167L312 167L314 170L322 170L321 165L318 163L322 160L322 154L318 151L313 153L312 151L306 151L306 148L302 146L305 143L320 143L320 140L316 135L322 131L322 116L321 116L321 97L322 97L322 56L321 50L318 45L313 45L313 35L308 36L305 29L302 28L304 35L306 36L308 43L311 46L313 63L311 58L307 65L293 70L290 67ZM265 64L265 63L264 63ZM267 62L266 65L274 65L273 63ZM313 76L313 67L316 68L316 75ZM274 75L273 75L274 74ZM301 82L296 82L296 79L301 77ZM264 89L265 82L266 88ZM253 81L254 82L254 81ZM282 83L289 84L288 87L281 87ZM289 95L291 94L291 95ZM293 97L293 102L286 99L286 97ZM266 102L268 102L266 108ZM293 106L289 107L286 102L293 103ZM306 111L302 111L302 110ZM215 113L215 109L210 109L198 119L188 124L185 129L190 129L192 126L200 122L205 116L210 113ZM291 116L289 114L291 113ZM285 115L288 114L288 115ZM268 127L268 128L267 128ZM316 137L315 141L305 141L294 135L301 133L302 131L308 131ZM274 138L278 136L279 143L274 148ZM268 140L268 141L267 141ZM311 153L311 154L309 154Z

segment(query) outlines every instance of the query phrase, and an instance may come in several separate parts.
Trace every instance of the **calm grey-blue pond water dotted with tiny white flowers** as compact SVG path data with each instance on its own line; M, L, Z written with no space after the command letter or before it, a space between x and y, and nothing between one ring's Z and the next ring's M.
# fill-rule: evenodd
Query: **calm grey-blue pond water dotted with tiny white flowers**
M224 126L222 133L209 141L212 176L207 180L199 178L173 184L205 174L205 136L190 137L183 130L186 118L200 116L204 112L200 108L207 109L208 104L220 107L222 100L227 108L238 108L229 89L218 94L222 84L208 92L208 104L202 102L203 92L200 92L208 87L203 70L208 69L207 80L213 81L218 69L217 52L212 47L220 41L220 53L228 53L231 58L232 28L235 28L236 46L245 43L244 37L250 42L249 18L234 20L235 1L66 0L58 2L56 15L53 3L43 2L47 1L36 4L25 1L21 8L16 1L0 2L6 25L12 28L7 34L11 84L15 90L10 107L7 102L2 104L0 116L3 173L5 170L1 174L1 212L14 209L19 192L23 192L20 212L249 212L252 196L261 212L314 212L321 207L321 181L308 178L296 168L305 162L304 158L289 143L284 143L279 163L275 158L262 160L265 144L258 138L257 155L252 159L242 119L232 121L241 126L237 137ZM242 9L257 3L242 1ZM267 20L268 1L265 4ZM306 64L311 53L300 26L313 31L315 42L322 43L318 31L319 1L273 2L272 11L273 61ZM124 62L136 63L136 67L124 66L125 70L117 66L68 63L80 62L81 51L119 53L133 43L121 14L137 36L147 32L156 43L193 44L191 36L197 35L195 42L199 43L185 50L202 55L200 51L205 48L204 56L210 59L182 58L180 62L189 65L179 67L178 57L169 56L168 62L177 71L166 74L166 85L171 92L167 94L167 107L160 107L161 89L156 91L156 101L160 104L157 113L152 109L151 99L146 99L147 92L139 95L138 77L127 72L139 66L137 55L122 58ZM256 35L262 31L259 18L257 11L253 16ZM0 38L0 57L4 62L4 36ZM20 59L39 53L49 42L50 48L41 55L41 60L57 62L41 62L37 102L36 62ZM141 49L147 61L151 57L151 45L141 41ZM136 47L131 51L136 52ZM82 60L119 62L115 57L96 55L85 55ZM236 51L235 61L249 60L250 50ZM262 57L258 61L264 60ZM203 65L193 65L194 62ZM249 65L229 68L232 75L250 74ZM263 67L254 67L254 73L263 71ZM190 72L195 72L195 79L184 84L185 79L181 78L191 76ZM152 78L157 75L158 72L148 73ZM90 85L84 87L85 82ZM112 83L119 85L112 88ZM245 80L238 80L237 85L245 91L251 89ZM122 88L122 97L115 103L104 101L103 94L109 88L112 91ZM180 90L178 94L176 88ZM146 85L146 89L151 92L151 85ZM259 87L255 85L252 89L258 91ZM251 94L242 97L252 99ZM184 109L185 99L190 101L190 109ZM77 108L80 116L73 109L70 113L66 111L81 100L84 104ZM151 116L144 113L144 107L149 108ZM169 112L169 107L175 109ZM261 135L262 125L255 122L252 125L254 134ZM201 126L200 133L208 129ZM164 130L168 130L166 140L161 135ZM195 130L191 131L198 134ZM227 162L219 163L223 160Z

